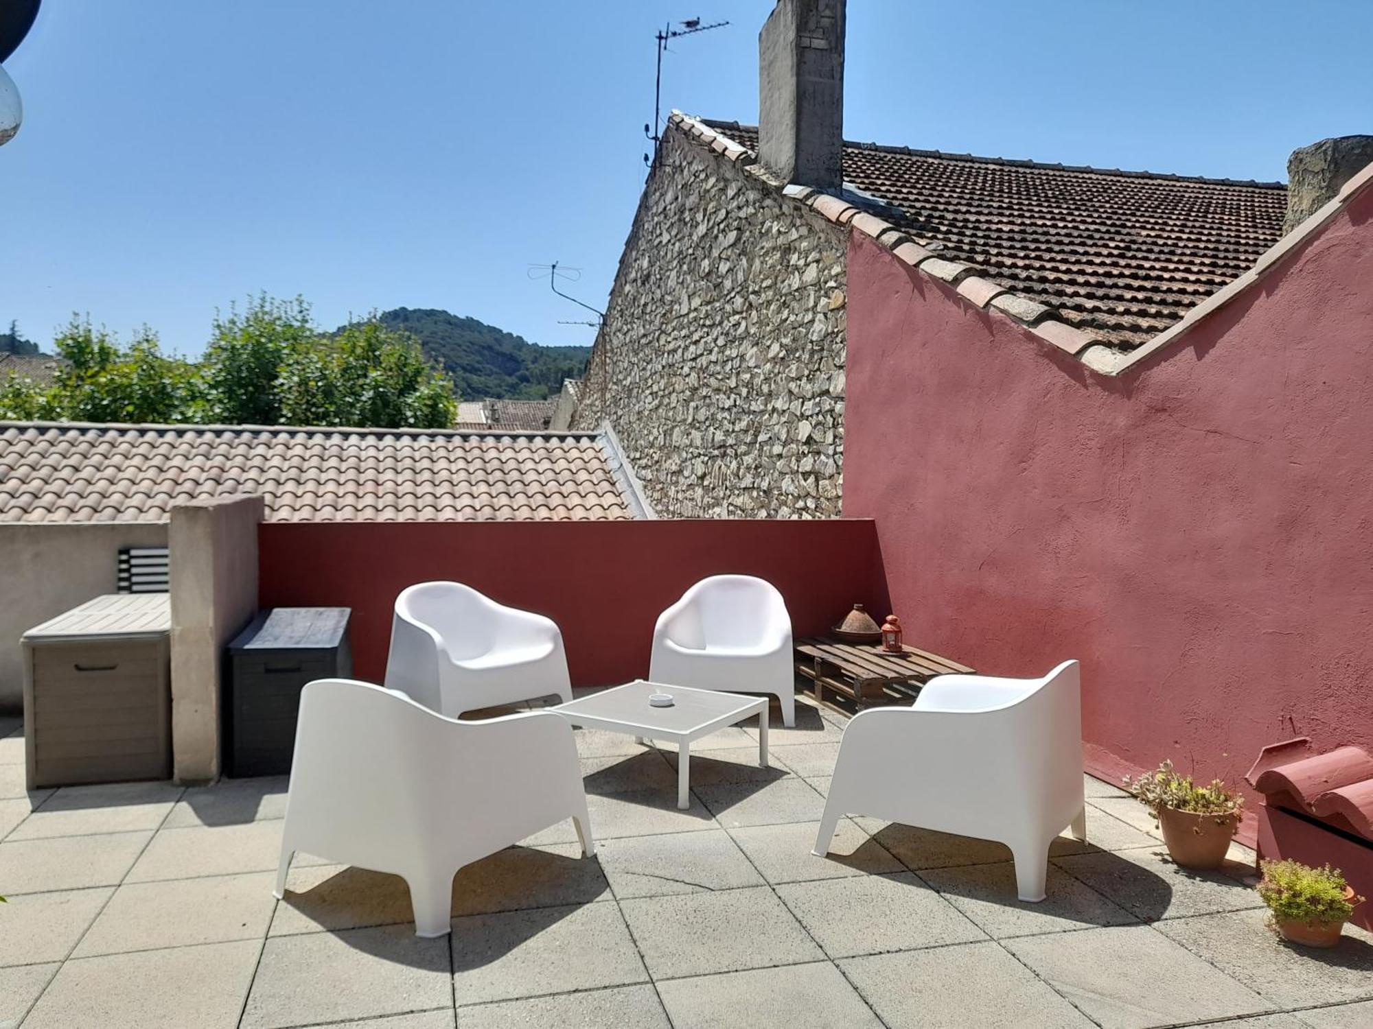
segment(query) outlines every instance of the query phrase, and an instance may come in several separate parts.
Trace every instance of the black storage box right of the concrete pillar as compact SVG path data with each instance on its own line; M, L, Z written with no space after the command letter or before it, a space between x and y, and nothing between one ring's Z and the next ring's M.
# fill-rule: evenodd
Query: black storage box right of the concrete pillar
M301 689L353 674L349 608L273 608L229 643L227 772L283 775L291 770Z

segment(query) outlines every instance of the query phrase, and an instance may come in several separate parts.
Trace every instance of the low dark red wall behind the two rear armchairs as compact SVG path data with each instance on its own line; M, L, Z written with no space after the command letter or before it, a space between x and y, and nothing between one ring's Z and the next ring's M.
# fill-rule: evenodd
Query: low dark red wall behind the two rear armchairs
M578 686L647 675L658 615L707 575L768 579L798 635L886 604L870 521L276 521L258 553L261 606L353 608L354 675L373 682L395 594L432 579L552 617Z

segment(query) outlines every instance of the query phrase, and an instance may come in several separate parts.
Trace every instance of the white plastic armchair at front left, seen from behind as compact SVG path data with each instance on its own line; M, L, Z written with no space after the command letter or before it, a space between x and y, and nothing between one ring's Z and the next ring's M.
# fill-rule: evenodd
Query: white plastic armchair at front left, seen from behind
M464 864L571 818L595 853L573 729L552 711L443 718L404 693L317 679L301 693L275 895L301 851L400 875L416 936L449 930Z

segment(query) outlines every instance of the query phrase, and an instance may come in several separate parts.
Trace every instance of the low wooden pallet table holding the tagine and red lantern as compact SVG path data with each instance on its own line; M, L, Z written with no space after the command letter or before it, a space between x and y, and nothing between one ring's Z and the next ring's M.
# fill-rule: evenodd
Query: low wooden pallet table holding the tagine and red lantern
M846 643L838 637L805 637L796 641L796 671L814 683L816 701L825 691L847 697L858 707L910 700L936 675L972 672L965 664L906 646L892 654L881 643Z

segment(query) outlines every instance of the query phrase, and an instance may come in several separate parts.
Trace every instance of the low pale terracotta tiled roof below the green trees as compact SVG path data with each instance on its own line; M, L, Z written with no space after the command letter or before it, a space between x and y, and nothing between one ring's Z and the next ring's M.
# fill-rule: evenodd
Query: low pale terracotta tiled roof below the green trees
M0 421L0 521L165 521L262 494L269 521L622 520L643 514L595 432L496 434Z

